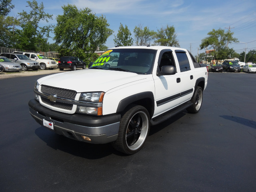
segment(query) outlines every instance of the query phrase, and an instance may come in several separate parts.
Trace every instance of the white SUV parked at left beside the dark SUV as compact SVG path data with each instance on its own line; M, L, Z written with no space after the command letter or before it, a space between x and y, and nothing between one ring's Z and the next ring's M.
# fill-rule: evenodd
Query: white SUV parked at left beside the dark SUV
M13 53L24 54L28 56L28 58L30 58L31 60L38 62L40 64L41 70L46 70L46 68L50 68L50 69L58 68L58 63L56 63L56 61L50 60L40 53L18 52L18 51L14 51Z

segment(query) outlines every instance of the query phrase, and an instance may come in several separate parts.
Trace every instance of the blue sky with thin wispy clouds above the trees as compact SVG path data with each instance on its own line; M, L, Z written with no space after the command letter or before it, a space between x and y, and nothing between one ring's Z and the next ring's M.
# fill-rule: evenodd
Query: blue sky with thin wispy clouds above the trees
M31 0L32 1L32 0ZM38 4L42 0L37 0ZM28 11L26 0L12 0L15 8L10 16L16 16L22 10ZM63 14L62 6L74 4L78 9L88 7L97 16L104 15L114 30L106 42L114 47L114 35L120 23L127 25L132 33L135 26L148 26L156 31L161 27L174 26L181 48L198 52L201 40L212 29L230 27L234 37L240 43L229 44L236 52L256 49L256 1L255 0L44 0L44 11L53 14L48 24L56 24L56 16ZM42 23L42 22L41 22ZM43 24L43 23L42 23ZM47 23L45 24L47 25ZM52 40L49 40L53 43ZM199 53L204 50L199 49Z

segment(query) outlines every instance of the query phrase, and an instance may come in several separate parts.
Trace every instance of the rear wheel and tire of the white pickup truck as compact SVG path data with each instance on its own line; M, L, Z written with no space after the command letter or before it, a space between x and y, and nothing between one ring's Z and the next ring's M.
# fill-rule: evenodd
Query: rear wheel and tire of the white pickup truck
M187 108L187 111L190 113L198 113L203 101L203 90L201 87L196 87L196 90L194 92L194 95L191 99L191 102L193 103L192 106Z

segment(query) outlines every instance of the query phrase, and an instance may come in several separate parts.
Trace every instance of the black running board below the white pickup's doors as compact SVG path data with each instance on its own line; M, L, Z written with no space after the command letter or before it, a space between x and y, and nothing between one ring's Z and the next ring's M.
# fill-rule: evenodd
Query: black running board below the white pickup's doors
M165 120L171 118L172 116L174 116L174 115L176 115L176 114L182 112L182 111L185 110L186 108L192 106L192 104L193 104L193 103L192 103L191 101L188 101L188 102L186 102L186 103L184 103L184 104L182 104L182 105L180 105L180 106L178 106L178 107L176 107L176 108L174 108L174 109L171 109L171 110L168 111L168 112L165 112L164 114L161 114L161 115L159 115L159 116L157 116L157 117L155 117L155 118L152 118L152 119L150 120L150 124L151 124L151 125L156 125L156 124L162 123L162 122L164 122Z

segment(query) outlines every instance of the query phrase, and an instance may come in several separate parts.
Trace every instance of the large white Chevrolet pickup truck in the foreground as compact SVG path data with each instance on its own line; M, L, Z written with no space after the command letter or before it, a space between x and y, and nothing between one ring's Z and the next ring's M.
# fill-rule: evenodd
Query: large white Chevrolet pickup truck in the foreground
M114 59L116 67L105 66ZM93 144L111 142L134 154L145 144L150 125L184 109L200 110L207 79L206 65L186 49L117 47L88 70L38 79L28 104L32 117L57 134Z

